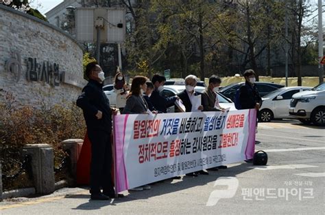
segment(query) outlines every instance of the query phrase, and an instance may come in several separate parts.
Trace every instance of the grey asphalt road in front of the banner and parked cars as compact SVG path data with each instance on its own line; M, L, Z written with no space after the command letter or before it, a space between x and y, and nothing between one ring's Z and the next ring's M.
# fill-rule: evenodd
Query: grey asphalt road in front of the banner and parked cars
M324 214L324 127L299 121L258 125L256 150L267 166L241 162L210 175L182 177L125 192L123 199L90 201L86 188L53 195L10 199L1 214Z

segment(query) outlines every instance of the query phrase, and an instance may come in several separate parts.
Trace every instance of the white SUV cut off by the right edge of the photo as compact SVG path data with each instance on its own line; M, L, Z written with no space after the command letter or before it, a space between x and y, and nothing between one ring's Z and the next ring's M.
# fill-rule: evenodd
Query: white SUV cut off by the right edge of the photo
M292 96L289 114L303 123L325 126L325 83Z

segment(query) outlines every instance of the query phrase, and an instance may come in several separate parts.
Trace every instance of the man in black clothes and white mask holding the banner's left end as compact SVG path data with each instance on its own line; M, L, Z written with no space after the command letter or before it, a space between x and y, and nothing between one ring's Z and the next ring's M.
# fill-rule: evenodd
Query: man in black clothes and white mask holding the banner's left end
M86 121L88 137L91 141L91 199L108 200L115 197L112 182L112 114L117 109L110 108L110 102L103 91L104 72L97 62L86 66L88 84L77 98ZM103 188L103 192L101 189ZM122 197L123 195L119 195Z

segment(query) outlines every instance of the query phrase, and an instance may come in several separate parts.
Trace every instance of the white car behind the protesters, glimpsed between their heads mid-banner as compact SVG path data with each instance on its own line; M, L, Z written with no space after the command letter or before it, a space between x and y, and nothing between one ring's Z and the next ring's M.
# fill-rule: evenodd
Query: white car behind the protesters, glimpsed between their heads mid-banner
M164 89L161 94L165 97L176 96L176 94L179 94L181 91L184 91L184 89L185 85L164 85ZM196 86L194 90L202 93L204 89L205 87ZM237 110L234 107L234 102L232 102L229 98L226 98L226 96L218 94L218 99L220 106L224 109L230 108L230 111ZM169 109L167 109L167 113L173 112L175 112L174 106L171 106Z

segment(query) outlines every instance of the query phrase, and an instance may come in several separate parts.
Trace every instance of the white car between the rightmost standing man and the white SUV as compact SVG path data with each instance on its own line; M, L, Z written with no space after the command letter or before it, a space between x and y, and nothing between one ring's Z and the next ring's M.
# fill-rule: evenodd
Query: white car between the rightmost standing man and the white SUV
M288 109L293 94L309 90L311 87L282 87L262 97L263 103L258 115L258 121L295 118L289 115Z

